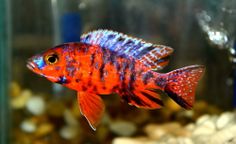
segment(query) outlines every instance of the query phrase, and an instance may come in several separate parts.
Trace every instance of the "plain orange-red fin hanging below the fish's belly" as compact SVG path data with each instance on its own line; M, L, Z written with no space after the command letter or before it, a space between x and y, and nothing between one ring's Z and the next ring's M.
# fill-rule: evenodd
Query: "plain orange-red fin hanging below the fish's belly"
M79 92L77 98L82 115L85 116L91 128L96 130L105 110L101 97L96 94Z

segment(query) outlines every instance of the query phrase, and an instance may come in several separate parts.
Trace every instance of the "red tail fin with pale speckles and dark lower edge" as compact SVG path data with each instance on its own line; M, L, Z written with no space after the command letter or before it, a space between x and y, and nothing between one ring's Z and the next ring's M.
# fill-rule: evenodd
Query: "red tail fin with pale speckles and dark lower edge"
M195 90L204 69L204 66L192 65L167 73L164 91L180 106L191 109L195 100Z

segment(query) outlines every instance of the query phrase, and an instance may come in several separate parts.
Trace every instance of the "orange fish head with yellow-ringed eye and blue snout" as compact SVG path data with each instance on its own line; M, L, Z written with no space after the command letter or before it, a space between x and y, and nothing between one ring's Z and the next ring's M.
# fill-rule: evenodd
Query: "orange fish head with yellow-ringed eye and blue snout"
M65 75L66 56L68 56L68 52L64 49L65 46L66 44L57 46L32 56L27 61L27 67L52 82L64 84L68 81Z

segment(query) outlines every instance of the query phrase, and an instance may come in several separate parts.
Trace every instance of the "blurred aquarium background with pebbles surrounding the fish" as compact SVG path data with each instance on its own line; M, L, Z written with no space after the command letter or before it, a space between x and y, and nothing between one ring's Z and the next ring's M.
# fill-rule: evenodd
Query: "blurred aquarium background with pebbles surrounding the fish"
M0 0L0 143L236 142L222 134L236 133L235 23L234 0ZM76 93L33 74L26 61L96 29L174 48L161 72L205 65L193 110L168 98L149 111L106 97L106 114L92 131Z

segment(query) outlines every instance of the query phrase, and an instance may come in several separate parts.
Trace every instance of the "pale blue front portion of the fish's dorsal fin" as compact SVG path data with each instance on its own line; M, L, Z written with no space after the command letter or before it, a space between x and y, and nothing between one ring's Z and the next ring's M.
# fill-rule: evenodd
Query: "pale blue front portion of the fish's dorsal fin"
M132 38L109 30L92 31L82 35L80 41L91 45L99 45L118 54L125 54L136 59L139 59L142 55L155 48L151 43L147 43L141 39ZM148 49L151 46L153 46L152 49Z

